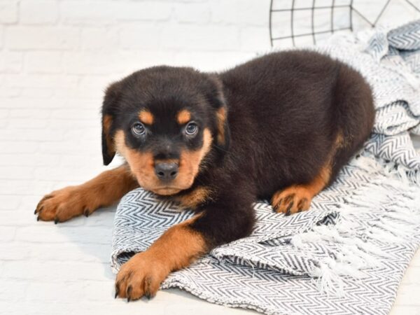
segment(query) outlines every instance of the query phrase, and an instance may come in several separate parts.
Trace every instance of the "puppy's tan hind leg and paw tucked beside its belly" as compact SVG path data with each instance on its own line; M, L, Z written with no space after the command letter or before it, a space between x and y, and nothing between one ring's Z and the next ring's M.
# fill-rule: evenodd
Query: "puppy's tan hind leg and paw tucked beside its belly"
M327 186L330 174L330 166L323 167L310 183L293 185L277 191L272 197L272 207L286 215L308 210L312 198Z

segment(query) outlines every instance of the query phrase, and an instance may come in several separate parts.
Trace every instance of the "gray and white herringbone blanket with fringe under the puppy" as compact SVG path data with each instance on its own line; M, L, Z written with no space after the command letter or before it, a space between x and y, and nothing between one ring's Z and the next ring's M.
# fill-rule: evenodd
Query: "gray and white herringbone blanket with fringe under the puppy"
M255 204L252 235L215 248L172 273L162 288L265 314L387 314L420 244L420 21L311 48L358 69L374 91L374 133L314 198L311 210L284 216ZM114 272L170 226L190 218L142 189L121 200L115 218Z

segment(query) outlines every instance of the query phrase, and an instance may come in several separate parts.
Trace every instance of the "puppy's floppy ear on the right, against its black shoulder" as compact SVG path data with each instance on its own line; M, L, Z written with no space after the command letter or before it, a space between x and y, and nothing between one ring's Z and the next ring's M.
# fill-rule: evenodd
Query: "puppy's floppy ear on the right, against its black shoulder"
M227 151L230 144L230 130L228 124L228 105L223 94L223 83L216 76L210 76L213 87L209 99L216 113L216 145L220 151Z

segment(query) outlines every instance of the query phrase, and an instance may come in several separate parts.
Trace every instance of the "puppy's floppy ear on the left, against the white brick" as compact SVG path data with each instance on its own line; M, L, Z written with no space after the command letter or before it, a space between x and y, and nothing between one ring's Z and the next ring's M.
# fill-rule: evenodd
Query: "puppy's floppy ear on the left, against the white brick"
M105 92L102 104L102 158L104 165L109 165L116 155L113 143L113 123L120 97L120 82L111 84Z

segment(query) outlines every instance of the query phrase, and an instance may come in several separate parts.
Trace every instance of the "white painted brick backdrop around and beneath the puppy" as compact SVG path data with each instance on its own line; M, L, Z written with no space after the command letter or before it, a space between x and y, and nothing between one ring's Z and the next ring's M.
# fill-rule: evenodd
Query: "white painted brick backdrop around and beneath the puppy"
M250 59L269 49L268 10L269 0L0 0L0 314L241 313L175 290L113 300L113 208L62 225L32 213L43 194L106 169L106 85L155 64L214 71ZM409 298L419 259L411 268L404 314L420 307Z

